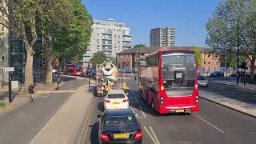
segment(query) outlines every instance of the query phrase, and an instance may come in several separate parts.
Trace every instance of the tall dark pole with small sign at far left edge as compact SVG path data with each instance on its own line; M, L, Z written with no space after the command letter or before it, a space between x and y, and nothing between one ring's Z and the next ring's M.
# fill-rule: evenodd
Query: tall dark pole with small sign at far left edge
M10 25L10 22L11 22L11 15L10 15L10 0L8 2L8 13L9 13L9 17L8 17L8 20L9 20L9 25L8 25L8 64L9 64L9 67L11 66L10 64L10 41L11 41L11 36L10 36L10 33L11 33L11 25ZM10 74L11 72L8 72L8 79L9 79L9 102L12 102L12 98L11 98L11 77L10 77Z

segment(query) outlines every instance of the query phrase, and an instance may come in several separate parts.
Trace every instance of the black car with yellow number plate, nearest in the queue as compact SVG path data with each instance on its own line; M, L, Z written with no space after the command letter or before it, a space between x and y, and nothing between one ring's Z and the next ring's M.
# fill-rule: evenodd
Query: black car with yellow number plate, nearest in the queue
M100 117L99 143L142 143L141 126L130 109L105 110Z

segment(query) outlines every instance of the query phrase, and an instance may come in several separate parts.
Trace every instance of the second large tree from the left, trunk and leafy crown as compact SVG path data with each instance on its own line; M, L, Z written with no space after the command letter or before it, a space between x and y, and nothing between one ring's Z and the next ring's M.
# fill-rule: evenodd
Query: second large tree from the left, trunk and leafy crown
M72 20L71 3L69 0L40 1L37 11L37 27L42 35L42 49L46 62L46 85L52 85L53 43L52 39L58 27L67 26Z

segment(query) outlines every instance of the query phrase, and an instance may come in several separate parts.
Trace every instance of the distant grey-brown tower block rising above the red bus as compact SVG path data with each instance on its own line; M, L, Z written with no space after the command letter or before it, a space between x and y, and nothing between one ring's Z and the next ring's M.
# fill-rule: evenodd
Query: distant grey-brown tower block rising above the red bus
M155 28L150 30L150 47L174 47L175 30L171 27Z

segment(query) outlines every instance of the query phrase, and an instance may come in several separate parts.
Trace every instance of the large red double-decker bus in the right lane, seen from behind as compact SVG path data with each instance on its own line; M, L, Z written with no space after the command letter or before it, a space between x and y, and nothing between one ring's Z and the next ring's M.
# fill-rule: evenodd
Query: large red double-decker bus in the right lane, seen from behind
M193 50L158 49L142 58L142 98L159 114L199 111L198 65Z

